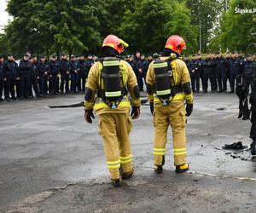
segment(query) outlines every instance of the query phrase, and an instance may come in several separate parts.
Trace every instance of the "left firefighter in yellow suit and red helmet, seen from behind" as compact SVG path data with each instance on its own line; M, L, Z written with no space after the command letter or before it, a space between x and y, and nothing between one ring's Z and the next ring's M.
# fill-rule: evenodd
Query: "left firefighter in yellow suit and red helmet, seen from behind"
M139 117L141 105L131 66L116 57L127 46L114 35L104 39L100 60L90 68L84 96L85 121L92 123L93 111L99 115L99 134L114 187L121 186L121 179L133 174L129 134L131 118Z

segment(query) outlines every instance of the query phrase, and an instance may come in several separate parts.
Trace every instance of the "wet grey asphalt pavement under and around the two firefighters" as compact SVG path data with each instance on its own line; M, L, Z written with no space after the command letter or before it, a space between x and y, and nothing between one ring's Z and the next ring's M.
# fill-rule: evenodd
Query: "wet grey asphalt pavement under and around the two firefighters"
M112 188L97 118L85 124L83 95L0 103L0 212L256 212L250 122L230 94L195 95L186 174L175 174L169 131L165 172L154 174L148 104L133 121L135 174ZM73 106L74 104L77 104ZM68 107L71 106L71 107Z

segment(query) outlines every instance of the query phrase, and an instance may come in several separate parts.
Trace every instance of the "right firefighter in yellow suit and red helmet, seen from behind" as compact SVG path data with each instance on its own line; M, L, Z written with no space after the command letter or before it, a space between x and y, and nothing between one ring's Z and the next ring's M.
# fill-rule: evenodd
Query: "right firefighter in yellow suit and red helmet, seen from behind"
M148 66L146 82L150 110L154 118L154 170L157 173L163 172L169 125L172 127L176 172L189 170L186 161L185 126L186 116L193 111L194 97L188 68L179 59L184 48L182 37L171 36L160 60L154 60Z

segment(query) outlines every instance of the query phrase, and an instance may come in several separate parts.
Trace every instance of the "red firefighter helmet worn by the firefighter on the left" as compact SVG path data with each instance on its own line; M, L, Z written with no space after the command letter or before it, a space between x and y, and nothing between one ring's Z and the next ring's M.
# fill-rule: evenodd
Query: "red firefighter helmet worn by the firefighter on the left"
M128 46L128 43L125 43L125 41L114 35L108 35L108 37L104 39L102 44L102 47L111 47L115 49L119 54L123 52L124 49Z

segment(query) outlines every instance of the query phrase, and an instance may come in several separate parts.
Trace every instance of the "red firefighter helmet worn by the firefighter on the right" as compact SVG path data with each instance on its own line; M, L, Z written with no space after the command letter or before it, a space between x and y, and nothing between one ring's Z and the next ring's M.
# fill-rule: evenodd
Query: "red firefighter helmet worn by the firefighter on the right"
M181 54L183 49L186 49L186 43L182 37L173 35L167 39L166 49L172 49L177 54Z

